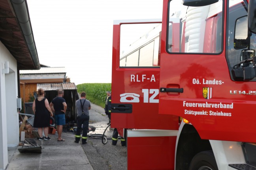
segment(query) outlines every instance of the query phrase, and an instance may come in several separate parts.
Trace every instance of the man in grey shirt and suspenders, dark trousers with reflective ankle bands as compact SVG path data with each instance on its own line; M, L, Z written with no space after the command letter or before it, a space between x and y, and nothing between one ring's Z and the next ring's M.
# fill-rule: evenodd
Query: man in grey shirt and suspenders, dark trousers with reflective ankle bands
M81 92L81 99L75 102L77 109L77 131L75 133L75 143L79 143L81 138L81 129L83 124L82 144L86 144L88 126L89 126L89 110L91 109L90 101L86 100L86 93Z

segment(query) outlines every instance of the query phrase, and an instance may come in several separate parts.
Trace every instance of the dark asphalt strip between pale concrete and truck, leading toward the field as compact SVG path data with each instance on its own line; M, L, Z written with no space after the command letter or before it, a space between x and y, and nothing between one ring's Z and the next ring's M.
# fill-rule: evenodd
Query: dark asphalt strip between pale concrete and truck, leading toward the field
M104 109L92 104L89 126L96 127L96 130L89 134L103 134L108 122ZM102 144L101 139L88 138L87 144L82 145L94 170L127 170L127 148L121 146L120 140L113 146L112 134L113 128L108 127L105 131L107 144Z

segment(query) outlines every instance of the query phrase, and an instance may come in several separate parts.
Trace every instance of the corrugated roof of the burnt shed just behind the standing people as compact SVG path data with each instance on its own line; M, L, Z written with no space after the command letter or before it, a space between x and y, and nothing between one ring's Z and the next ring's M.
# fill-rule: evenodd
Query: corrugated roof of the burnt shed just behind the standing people
M36 90L44 89L45 91L54 91L58 89L63 90L77 90L75 83L38 83Z

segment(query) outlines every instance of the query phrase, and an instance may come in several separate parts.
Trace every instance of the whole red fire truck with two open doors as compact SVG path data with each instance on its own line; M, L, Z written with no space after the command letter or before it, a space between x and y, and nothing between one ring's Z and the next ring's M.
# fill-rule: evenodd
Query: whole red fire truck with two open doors
M111 127L128 170L256 170L255 0L164 0L115 20Z

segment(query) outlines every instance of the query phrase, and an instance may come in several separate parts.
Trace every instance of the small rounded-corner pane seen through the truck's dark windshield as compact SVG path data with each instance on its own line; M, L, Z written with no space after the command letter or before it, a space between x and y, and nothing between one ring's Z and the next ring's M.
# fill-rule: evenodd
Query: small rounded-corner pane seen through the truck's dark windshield
M234 48L235 50L243 49L248 46L248 29L247 16L237 18L235 21Z

